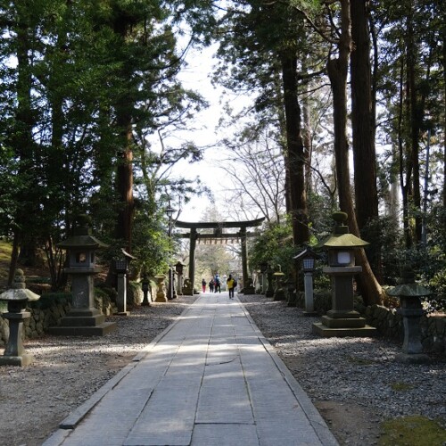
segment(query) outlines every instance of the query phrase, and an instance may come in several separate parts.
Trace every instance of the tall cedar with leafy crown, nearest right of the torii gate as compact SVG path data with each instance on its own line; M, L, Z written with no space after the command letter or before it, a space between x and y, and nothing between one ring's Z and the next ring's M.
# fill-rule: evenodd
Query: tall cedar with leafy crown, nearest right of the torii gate
M230 62L234 89L260 87L257 110L276 109L277 123L283 122L287 211L293 220L294 244L309 240L305 194L305 151L301 136L301 107L298 101L298 46L302 20L288 4L234 4L221 20L219 55ZM227 68L229 65L227 65ZM277 96L277 75L282 91ZM266 99L268 98L268 99ZM278 105L280 104L280 105ZM281 120L281 115L285 120Z

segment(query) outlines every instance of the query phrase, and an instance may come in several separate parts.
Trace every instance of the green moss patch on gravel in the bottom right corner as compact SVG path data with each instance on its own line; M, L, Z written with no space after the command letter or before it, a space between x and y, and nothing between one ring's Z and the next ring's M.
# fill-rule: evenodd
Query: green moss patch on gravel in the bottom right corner
M446 429L426 417L401 417L382 424L379 446L443 446Z

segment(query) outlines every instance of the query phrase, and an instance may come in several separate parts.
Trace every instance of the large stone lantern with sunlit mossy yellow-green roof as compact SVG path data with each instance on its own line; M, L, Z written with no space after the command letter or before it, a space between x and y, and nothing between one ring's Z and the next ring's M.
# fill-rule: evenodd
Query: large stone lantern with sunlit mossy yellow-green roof
M335 231L322 244L328 250L328 267L323 271L331 277L332 310L327 311L321 322L313 324L313 333L324 337L332 336L371 336L376 328L366 325L354 310L353 278L362 271L355 266L355 250L368 245L368 242L349 233L344 224L345 212L335 212Z

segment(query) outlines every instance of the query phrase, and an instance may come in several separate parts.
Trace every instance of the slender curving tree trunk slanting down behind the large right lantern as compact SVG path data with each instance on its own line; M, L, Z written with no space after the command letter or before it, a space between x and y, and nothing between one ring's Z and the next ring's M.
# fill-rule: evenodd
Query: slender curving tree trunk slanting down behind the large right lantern
M337 59L329 59L327 72L333 91L333 118L335 125L335 159L338 184L339 204L341 211L348 214L351 233L359 236L350 186L349 145L347 140L347 72L351 53L351 18L350 1L342 0L342 33L338 44ZM357 263L362 273L357 277L358 285L366 305L381 303L382 290L376 281L363 249L357 252Z

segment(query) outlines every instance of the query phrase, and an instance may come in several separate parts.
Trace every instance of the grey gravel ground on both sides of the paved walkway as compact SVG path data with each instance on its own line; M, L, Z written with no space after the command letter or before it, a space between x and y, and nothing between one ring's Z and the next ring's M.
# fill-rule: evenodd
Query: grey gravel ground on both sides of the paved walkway
M386 418L423 415L446 426L444 355L404 365L394 360L401 345L320 338L311 335L318 318L304 318L301 310L260 295L238 297L341 444L376 444ZM103 337L27 341L32 365L0 368L0 444L40 445L193 301L179 297L133 309L127 318L111 318L118 330Z

